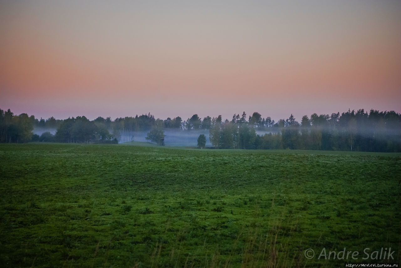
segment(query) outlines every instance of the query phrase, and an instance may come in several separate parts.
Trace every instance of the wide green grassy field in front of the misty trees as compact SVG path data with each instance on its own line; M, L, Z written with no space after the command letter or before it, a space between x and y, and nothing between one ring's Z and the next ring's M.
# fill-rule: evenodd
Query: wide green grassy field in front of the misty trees
M0 144L0 159L2 267L400 264L400 154Z

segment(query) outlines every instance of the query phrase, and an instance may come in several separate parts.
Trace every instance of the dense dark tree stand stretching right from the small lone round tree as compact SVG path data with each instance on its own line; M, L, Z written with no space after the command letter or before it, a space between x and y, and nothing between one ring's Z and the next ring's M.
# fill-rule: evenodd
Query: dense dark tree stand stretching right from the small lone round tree
M401 115L363 109L355 112L312 114L301 123L291 114L277 123L254 112L245 122L245 112L233 120L212 119L210 141L223 149L301 149L367 152L401 152ZM266 122L268 122L266 124ZM257 135L257 129L268 132Z

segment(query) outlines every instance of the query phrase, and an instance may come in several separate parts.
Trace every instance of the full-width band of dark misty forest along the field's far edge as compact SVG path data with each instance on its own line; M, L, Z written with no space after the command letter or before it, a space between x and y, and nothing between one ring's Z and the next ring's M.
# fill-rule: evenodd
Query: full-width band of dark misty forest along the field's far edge
M34 134L34 129L42 134ZM37 119L0 109L0 142L118 143L130 141L126 137L134 137L134 133L148 132L146 138L157 143L158 136L163 136L167 129L182 133L208 130L213 148L220 149L401 152L401 114L394 111L368 113L360 109L342 114L312 114L303 116L301 122L291 114L275 122L270 117L262 118L258 112L248 117L245 112L241 116L234 114L232 120L225 121L221 116L202 120L197 114L187 120L179 116L162 120L150 113L91 121L85 116Z

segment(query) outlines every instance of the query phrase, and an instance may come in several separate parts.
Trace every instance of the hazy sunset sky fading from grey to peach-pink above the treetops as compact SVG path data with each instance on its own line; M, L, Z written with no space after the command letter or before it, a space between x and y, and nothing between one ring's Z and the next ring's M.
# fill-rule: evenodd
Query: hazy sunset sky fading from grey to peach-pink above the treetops
M0 0L0 108L401 113L401 1Z

